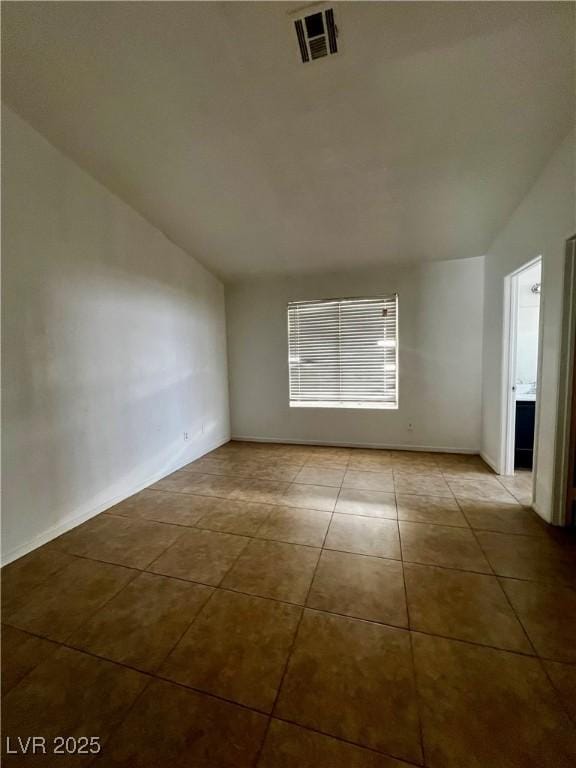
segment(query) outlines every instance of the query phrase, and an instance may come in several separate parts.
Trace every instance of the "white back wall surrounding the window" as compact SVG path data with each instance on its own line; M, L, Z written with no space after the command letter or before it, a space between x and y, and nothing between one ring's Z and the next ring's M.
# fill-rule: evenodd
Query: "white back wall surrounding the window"
M285 279L226 289L236 437L478 451L483 259ZM286 305L399 294L397 411L290 408ZM414 424L413 431L408 423Z

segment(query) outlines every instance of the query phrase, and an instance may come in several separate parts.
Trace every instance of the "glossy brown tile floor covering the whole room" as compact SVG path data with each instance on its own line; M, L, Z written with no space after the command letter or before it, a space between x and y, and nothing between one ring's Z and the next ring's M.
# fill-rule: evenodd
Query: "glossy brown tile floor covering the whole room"
M4 735L102 745L6 765L576 765L576 540L530 482L218 448L3 570Z

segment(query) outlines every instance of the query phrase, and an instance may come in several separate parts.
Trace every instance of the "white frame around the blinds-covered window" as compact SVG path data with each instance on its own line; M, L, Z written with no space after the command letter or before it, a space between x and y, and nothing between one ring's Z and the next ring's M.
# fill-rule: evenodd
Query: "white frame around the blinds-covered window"
M374 401L374 400L293 400L292 392L292 366L290 362L290 309L294 305L303 304L323 304L334 302L353 302L353 301L395 301L395 400L394 401ZM323 299L291 299L286 305L286 330L287 330L287 361L288 361L288 404L290 408L321 408L334 410L374 410L374 411L396 411L400 407L399 391L399 347L400 347L400 328L399 328L399 295L398 292L377 294L370 296L343 296L330 297Z

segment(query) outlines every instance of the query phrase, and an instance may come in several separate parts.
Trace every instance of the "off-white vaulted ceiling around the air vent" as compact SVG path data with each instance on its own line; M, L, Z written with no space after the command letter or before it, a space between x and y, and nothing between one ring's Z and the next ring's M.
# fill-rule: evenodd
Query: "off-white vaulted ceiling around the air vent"
M3 98L225 279L480 255L574 114L572 3L9 2Z

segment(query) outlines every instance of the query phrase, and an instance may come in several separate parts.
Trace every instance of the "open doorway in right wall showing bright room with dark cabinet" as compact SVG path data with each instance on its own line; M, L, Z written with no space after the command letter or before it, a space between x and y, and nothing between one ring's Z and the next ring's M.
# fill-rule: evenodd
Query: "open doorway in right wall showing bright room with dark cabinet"
M516 498L531 504L535 469L539 380L542 259L505 278L503 474L514 478Z

